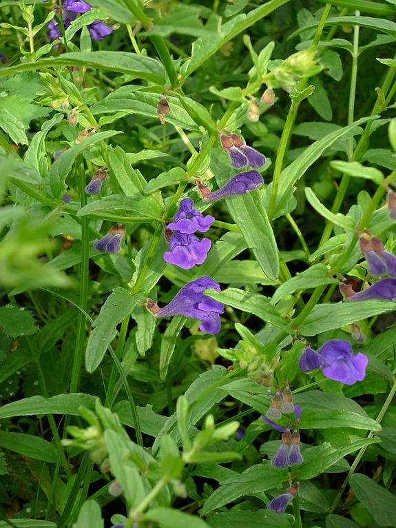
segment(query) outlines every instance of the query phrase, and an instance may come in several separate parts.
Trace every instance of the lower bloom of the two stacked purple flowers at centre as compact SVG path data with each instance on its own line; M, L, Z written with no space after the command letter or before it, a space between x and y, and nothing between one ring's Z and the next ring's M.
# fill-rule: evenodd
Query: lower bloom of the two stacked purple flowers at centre
M169 241L170 252L164 253L164 261L183 270L191 270L196 264L205 262L210 247L209 238L202 238L200 241L195 234L175 231Z

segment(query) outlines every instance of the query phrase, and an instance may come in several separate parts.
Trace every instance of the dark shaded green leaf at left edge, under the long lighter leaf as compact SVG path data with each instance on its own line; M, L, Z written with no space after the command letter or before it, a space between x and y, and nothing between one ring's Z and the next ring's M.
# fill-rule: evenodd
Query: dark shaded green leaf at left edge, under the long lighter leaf
M58 450L54 445L31 434L0 431L0 447L43 462L55 463L58 460Z

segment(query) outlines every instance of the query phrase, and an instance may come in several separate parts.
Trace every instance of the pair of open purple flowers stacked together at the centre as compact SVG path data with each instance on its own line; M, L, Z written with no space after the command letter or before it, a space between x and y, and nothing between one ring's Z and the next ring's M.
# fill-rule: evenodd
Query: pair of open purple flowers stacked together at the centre
M165 230L170 251L165 252L164 261L183 270L191 270L196 264L204 263L211 247L209 238L202 238L200 241L194 233L207 232L214 218L203 216L193 205L194 202L190 198L182 200L174 221L169 223Z

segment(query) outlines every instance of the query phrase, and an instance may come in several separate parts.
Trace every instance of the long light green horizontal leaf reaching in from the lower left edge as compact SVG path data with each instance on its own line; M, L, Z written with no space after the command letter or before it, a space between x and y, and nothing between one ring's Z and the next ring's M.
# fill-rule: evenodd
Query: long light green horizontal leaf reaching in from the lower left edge
M35 416L37 414L71 414L79 416L81 406L94 409L95 396L83 393L59 394L52 398L32 396L23 400L3 405L0 409L0 420L14 416Z

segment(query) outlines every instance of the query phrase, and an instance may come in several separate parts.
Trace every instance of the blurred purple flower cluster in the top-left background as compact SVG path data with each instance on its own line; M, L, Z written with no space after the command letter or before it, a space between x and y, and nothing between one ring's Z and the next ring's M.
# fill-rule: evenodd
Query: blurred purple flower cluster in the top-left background
M90 6L90 4L85 2L84 0L63 1L62 17L64 28L67 29L70 26L72 21L76 18L77 13L86 13L91 9L92 6ZM57 10L57 14L60 16L59 10ZM109 28L109 26L105 26L105 24L100 20L92 22L89 26L87 26L87 28L90 32L91 38L96 41L101 41L107 35L110 35L110 33L112 32L112 28ZM51 41L54 41L55 39L59 39L61 37L61 31L59 30L58 23L55 19L52 19L52 21L48 23L48 30L48 37Z

